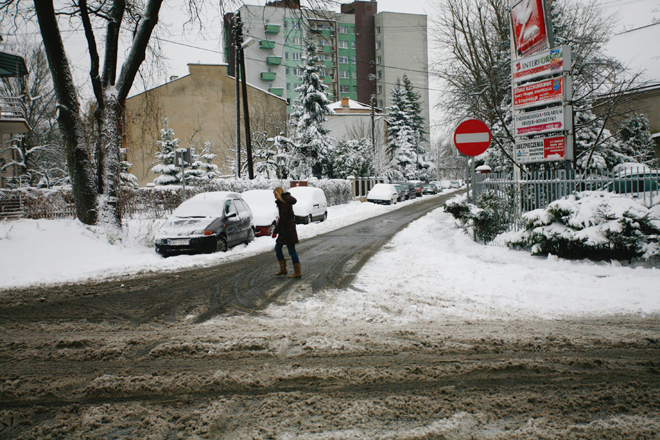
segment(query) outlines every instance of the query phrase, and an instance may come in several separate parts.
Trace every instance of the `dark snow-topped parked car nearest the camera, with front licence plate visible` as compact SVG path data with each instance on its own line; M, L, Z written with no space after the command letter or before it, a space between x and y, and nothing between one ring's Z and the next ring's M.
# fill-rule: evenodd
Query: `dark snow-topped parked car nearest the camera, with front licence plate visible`
M163 256L225 252L254 240L252 211L238 192L202 192L181 203L155 234Z

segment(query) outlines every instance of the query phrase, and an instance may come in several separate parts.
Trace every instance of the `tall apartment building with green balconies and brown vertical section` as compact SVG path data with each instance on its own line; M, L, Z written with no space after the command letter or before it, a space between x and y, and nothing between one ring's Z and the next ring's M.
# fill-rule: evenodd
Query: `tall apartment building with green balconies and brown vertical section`
M289 104L298 95L299 65L305 53L306 32L314 35L322 63L321 76L329 99L349 98L389 104L389 91L404 74L412 80L423 101L428 121L428 55L426 16L377 12L376 1L342 4L340 12L300 8L299 0L271 1L265 6L243 5L225 14L225 59L234 69L232 17L240 14L248 83L282 96Z

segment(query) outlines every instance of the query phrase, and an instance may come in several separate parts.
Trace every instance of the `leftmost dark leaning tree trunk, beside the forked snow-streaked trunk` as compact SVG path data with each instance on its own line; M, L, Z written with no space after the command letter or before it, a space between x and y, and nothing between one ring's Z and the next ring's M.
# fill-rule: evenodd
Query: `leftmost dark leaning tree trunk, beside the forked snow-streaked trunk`
M35 1L34 8L58 100L58 125L72 180L76 217L85 224L94 225L98 219L94 165L85 142L78 95L57 26L55 10L52 1Z

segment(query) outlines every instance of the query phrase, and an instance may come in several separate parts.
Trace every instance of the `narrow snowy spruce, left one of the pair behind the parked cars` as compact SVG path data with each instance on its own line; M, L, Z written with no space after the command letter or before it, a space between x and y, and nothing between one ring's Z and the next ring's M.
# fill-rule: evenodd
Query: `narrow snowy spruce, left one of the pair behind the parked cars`
M417 155L415 154L415 131L412 129L412 111L406 99L406 90L397 78L395 87L390 91L386 121L388 170L391 179L417 179Z

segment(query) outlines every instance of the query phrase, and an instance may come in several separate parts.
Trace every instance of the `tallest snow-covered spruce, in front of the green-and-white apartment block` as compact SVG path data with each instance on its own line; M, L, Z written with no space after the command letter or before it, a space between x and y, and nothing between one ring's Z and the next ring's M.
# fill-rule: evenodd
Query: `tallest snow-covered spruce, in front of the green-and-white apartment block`
M323 128L325 115L333 113L327 97L329 87L319 76L321 61L316 43L305 36L305 55L300 86L296 87L298 98L294 101L292 123L293 141L291 172L298 177L327 177L331 173L333 139Z

